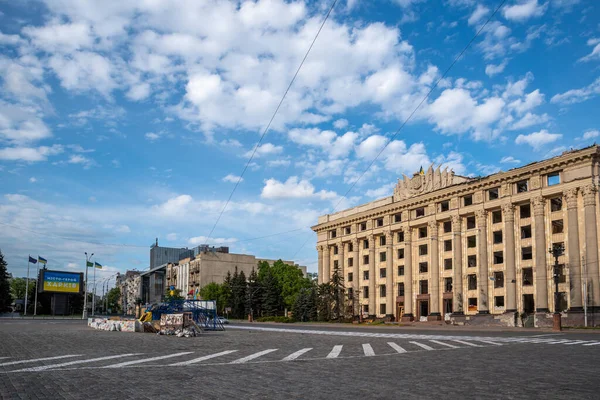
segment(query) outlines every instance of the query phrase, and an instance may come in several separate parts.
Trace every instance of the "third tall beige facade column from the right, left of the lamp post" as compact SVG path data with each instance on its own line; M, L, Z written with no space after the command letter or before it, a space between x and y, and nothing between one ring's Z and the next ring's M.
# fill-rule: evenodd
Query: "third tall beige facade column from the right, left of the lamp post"
M533 224L535 231L535 311L548 312L548 262L546 261L546 228L544 214L546 199L535 197L533 203Z

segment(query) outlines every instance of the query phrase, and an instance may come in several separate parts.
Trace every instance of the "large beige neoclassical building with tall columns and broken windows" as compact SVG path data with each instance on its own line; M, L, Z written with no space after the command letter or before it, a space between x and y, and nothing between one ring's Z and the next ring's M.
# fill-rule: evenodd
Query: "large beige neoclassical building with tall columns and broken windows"
M319 282L337 270L355 315L512 321L518 312L543 325L555 310L549 250L558 247L559 311L581 315L587 292L592 312L599 160L594 145L486 177L439 167L404 176L390 197L319 217Z

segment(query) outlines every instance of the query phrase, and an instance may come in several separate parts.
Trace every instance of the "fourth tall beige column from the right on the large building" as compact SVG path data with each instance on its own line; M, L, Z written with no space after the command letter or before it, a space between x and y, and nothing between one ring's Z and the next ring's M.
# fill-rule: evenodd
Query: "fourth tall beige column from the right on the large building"
M505 312L517 311L517 273L515 269L515 206L510 203L502 205L504 220L504 266L506 268L506 305Z

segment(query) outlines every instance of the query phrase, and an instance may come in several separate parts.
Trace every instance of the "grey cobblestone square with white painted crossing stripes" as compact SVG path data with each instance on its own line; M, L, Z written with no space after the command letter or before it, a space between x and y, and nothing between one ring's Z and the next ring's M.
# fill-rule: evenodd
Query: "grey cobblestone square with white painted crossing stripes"
M0 398L598 398L600 335L248 325L196 338L1 321Z

